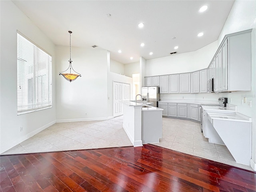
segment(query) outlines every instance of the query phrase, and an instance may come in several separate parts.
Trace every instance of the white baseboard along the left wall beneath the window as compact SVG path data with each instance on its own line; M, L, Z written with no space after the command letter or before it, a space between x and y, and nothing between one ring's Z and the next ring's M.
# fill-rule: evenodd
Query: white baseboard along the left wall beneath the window
M9 149L12 148L12 147L18 145L18 144L20 144L21 142L23 142L24 140L26 140L26 139L28 139L28 138L34 136L35 134L38 134L38 133L41 132L42 130L44 130L44 129L50 127L51 125L53 125L53 124L55 124L55 123L56 123L56 120L54 120L54 121L52 121L52 122L50 122L50 123L48 123L48 124L46 124L46 125L44 125L44 126L38 128L38 129L36 129L36 130L34 130L34 131L32 131L32 132L30 132L30 133L28 133L28 134L22 136L21 138L19 138L19 139L16 140L16 141L13 141L13 142L8 143L8 144L6 144L6 145L4 145L4 146L1 146L1 148L0 148L0 154L3 153L3 152L5 152L5 151L7 151L7 150L9 150Z

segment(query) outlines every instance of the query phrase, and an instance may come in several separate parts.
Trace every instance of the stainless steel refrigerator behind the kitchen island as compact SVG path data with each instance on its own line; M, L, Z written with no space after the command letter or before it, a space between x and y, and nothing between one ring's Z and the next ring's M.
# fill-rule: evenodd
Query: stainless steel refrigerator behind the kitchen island
M142 102L153 103L152 106L158 107L160 100L159 86L156 87L142 87Z

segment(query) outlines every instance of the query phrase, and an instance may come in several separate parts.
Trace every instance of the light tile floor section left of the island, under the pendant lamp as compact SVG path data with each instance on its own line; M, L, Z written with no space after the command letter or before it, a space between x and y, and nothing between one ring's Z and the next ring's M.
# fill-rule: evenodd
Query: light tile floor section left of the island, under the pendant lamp
M56 123L2 154L132 146L122 124L122 116L104 121Z

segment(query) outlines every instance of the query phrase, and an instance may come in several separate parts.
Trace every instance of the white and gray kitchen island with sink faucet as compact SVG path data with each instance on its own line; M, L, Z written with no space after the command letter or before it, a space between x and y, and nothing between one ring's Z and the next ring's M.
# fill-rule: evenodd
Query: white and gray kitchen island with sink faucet
M162 110L152 103L122 101L123 128L133 146L159 142L162 138Z

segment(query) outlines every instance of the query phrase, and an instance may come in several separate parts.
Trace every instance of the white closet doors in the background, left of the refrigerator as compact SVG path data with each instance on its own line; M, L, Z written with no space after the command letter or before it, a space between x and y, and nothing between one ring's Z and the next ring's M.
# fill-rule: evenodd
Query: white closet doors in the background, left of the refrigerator
M114 82L113 83L113 116L123 115L122 100L130 100L130 84Z

